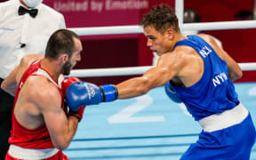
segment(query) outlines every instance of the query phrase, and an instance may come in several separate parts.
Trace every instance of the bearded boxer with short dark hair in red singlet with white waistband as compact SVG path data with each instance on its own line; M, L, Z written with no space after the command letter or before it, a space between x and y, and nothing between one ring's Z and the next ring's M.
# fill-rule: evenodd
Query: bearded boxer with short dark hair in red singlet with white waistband
M22 58L4 80L1 87L15 95L11 145L5 160L68 159L61 150L68 148L80 119L65 113L58 79L81 60L81 51L79 37L60 29L50 37L45 55Z

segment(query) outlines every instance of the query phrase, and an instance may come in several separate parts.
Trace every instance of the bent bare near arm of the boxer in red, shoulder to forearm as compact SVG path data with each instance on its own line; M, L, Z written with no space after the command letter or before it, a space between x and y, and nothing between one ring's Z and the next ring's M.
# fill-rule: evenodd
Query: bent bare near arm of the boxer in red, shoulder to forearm
M29 83L29 100L31 100L44 116L44 123L50 133L55 148L68 148L76 133L78 120L74 116L67 117L61 108L61 96L57 87L46 77L38 76Z

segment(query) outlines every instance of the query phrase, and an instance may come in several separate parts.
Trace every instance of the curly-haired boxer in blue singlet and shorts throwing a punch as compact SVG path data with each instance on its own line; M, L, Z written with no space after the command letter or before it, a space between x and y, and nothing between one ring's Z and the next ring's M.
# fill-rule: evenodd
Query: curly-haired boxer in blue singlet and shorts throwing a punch
M236 61L212 36L182 36L168 5L153 7L141 25L148 47L160 56L156 67L117 85L70 85L69 105L128 99L165 84L170 99L182 101L203 128L181 160L249 160L256 132L232 83L243 75Z

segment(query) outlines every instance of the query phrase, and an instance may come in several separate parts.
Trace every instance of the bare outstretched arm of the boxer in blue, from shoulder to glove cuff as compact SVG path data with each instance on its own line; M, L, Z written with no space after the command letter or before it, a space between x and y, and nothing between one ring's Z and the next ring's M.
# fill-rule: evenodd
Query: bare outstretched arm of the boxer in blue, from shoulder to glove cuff
M118 99L136 97L167 83L184 68L186 59L182 52L165 53L158 59L157 66L148 69L143 76L117 84Z

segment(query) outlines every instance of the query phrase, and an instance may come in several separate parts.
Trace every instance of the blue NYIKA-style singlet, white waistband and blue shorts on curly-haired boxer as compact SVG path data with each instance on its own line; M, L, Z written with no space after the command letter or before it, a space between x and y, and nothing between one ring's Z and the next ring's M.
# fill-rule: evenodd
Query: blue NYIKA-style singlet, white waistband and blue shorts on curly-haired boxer
M237 99L227 63L200 36L178 41L174 50L178 46L193 48L204 60L204 73L196 84L179 87L172 80L168 84L204 129L181 159L249 160L255 128L249 112Z

